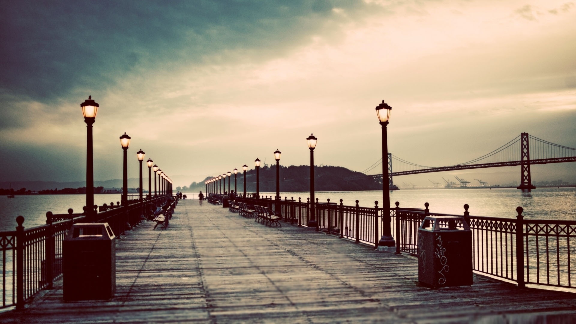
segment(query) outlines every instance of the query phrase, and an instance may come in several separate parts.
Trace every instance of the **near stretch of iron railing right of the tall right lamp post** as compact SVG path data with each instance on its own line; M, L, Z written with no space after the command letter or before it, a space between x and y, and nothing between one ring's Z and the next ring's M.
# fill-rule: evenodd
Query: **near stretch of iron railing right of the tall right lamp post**
M418 254L418 227L426 216L446 216L426 210L396 208L396 252ZM516 218L469 216L472 232L473 270L525 284L576 288L576 221L525 220L523 209ZM454 215L451 215L454 216Z

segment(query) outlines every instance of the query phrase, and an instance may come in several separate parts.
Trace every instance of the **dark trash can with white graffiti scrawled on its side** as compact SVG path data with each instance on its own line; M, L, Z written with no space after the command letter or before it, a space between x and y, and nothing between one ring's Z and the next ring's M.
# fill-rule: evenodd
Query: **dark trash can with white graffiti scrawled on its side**
M472 232L464 217L424 218L418 229L418 281L433 288L472 284Z

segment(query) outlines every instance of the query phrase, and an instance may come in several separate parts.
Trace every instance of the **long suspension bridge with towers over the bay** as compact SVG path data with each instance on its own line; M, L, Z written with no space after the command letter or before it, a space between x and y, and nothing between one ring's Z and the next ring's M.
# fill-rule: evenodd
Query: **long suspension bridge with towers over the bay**
M400 159L397 156L388 153L388 183L390 188L393 188L392 177L409 174L423 174L429 172L442 172L454 171L464 169L479 169L479 168L495 168L495 167L512 167L521 166L521 182L518 189L530 190L535 189L532 185L530 178L530 165L532 164L548 164L548 163L565 163L576 161L576 149L567 146L554 144L540 138L529 135L528 133L521 133L513 140L500 146L499 148L480 156L476 159L459 163L455 165L448 165L445 167L430 167L420 165L417 163L408 162ZM382 159L370 165L367 169L362 171L363 174L372 171L372 169L382 164ZM392 171L392 165L395 171ZM374 179L381 179L382 174L374 175L360 175L344 180L358 180L366 176Z

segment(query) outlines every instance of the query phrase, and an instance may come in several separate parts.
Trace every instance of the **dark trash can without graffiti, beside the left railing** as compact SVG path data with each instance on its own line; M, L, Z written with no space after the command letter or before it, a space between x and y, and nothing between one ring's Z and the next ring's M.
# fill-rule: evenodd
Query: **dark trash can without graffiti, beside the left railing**
M116 236L108 223L72 225L62 242L64 300L109 300L116 291Z

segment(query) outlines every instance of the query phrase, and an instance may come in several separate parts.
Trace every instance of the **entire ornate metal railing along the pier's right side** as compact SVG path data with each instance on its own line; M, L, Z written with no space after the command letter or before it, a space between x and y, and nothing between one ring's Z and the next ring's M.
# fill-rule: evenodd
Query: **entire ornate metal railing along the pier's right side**
M271 197L272 198L272 197ZM300 198L237 198L247 204L260 204L276 210L282 219L307 226L310 203ZM314 205L319 231L339 235L378 247L384 232L382 209L343 205L329 201ZM525 284L576 288L576 221L524 220L522 208L516 218L470 216L468 205L461 215L472 232L472 266L476 272ZM418 228L426 216L456 216L430 213L424 209L396 208L390 210L391 232L396 253L418 255ZM518 235L520 234L520 235Z

